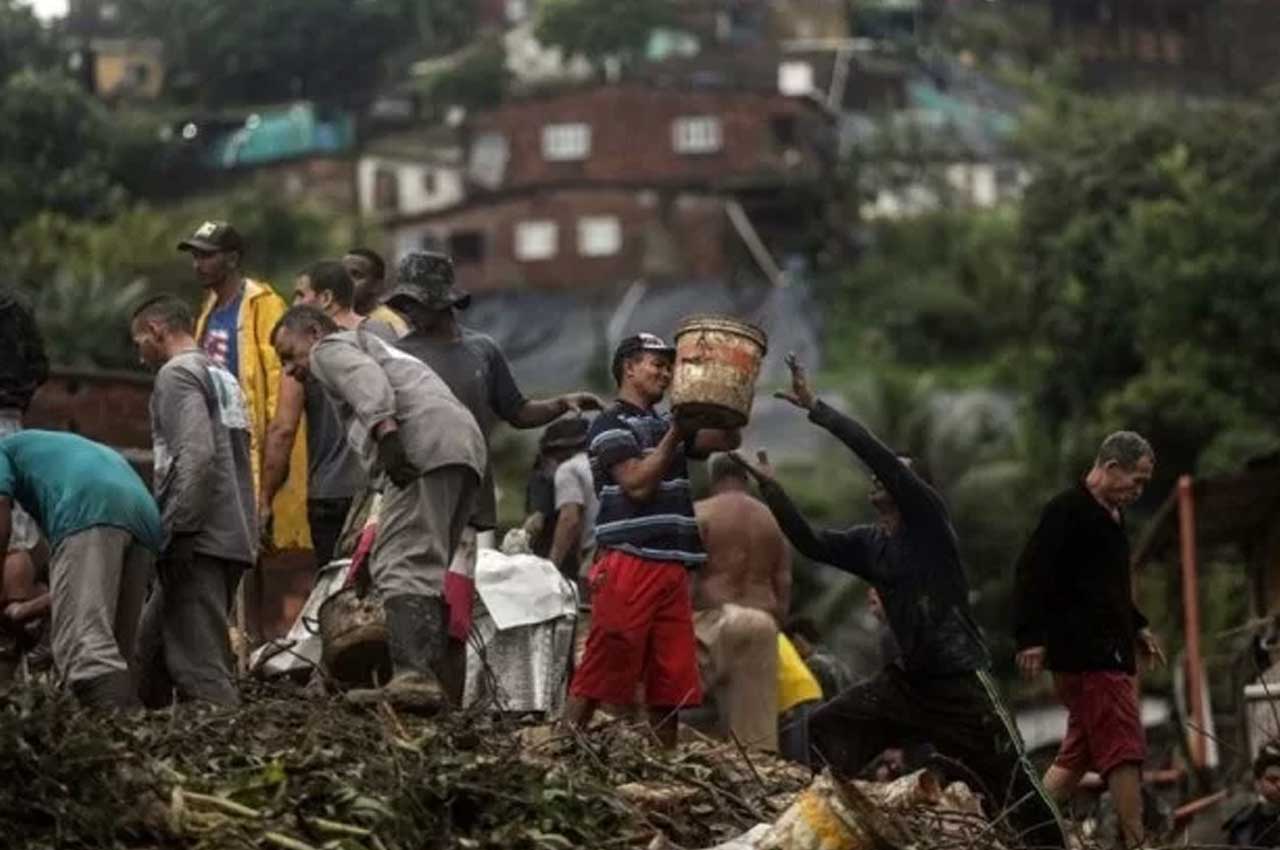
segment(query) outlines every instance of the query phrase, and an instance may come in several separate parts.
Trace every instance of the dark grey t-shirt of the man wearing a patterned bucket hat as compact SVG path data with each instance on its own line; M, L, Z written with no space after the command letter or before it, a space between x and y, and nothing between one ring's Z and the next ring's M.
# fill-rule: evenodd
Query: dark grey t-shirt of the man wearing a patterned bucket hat
M516 385L502 349L481 333L462 328L460 339L439 341L413 332L401 337L396 346L430 366L449 385L458 401L475 416L486 447L498 420L512 422L525 406L525 396ZM486 465L471 525L492 529L497 524L493 469Z

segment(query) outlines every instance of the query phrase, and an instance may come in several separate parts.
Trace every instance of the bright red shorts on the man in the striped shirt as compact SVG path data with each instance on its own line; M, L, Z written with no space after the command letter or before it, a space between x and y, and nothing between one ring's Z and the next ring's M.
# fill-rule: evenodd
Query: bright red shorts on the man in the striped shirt
M591 629L570 694L628 705L643 684L649 705L700 704L689 570L609 549L588 585Z

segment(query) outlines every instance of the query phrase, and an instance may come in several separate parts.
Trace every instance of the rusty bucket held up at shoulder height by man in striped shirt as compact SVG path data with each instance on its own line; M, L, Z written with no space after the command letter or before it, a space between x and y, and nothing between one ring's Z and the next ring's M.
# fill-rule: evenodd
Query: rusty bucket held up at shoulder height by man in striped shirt
M755 325L730 316L690 316L676 329L671 406L716 428L742 428L751 417L755 379L769 349Z

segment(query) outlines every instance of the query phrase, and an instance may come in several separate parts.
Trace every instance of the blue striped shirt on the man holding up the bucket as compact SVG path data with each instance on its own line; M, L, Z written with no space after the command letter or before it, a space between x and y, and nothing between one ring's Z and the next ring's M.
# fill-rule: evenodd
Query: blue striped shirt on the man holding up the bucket
M676 561L695 567L707 561L707 553L689 486L689 443L677 451L648 502L632 501L612 475L618 463L653 452L671 428L671 413L641 410L625 401L595 417L588 438L591 477L600 497L595 541L602 548L621 549L648 561Z

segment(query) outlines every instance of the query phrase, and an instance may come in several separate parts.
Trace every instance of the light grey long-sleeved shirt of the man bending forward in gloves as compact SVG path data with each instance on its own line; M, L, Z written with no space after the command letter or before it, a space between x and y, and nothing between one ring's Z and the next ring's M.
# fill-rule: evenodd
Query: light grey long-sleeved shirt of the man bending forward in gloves
M422 472L488 466L475 417L422 361L370 333L342 330L311 349L311 374L333 398L347 439L370 476L381 475L371 430L394 419L410 462Z

